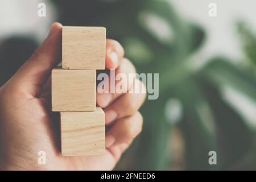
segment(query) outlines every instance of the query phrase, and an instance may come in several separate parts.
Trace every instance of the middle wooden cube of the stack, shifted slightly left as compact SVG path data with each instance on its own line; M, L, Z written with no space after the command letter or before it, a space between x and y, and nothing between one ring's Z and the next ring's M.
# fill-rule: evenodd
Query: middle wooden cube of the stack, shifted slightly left
M94 111L96 71L52 70L52 111Z

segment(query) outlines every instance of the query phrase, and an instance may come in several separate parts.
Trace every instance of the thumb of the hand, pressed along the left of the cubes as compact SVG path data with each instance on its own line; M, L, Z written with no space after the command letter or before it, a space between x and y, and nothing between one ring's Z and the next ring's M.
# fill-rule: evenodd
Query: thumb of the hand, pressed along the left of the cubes
M13 84L17 83L22 87L19 89L27 89L26 91L36 96L37 90L47 81L51 69L60 61L61 28L60 23L53 23L46 40L11 78Z

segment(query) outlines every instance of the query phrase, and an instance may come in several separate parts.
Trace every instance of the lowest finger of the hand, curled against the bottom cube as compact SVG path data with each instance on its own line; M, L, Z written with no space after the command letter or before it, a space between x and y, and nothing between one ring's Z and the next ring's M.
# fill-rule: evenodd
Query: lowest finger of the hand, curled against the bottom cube
M131 142L142 131L143 118L141 113L119 119L106 134L106 148Z

